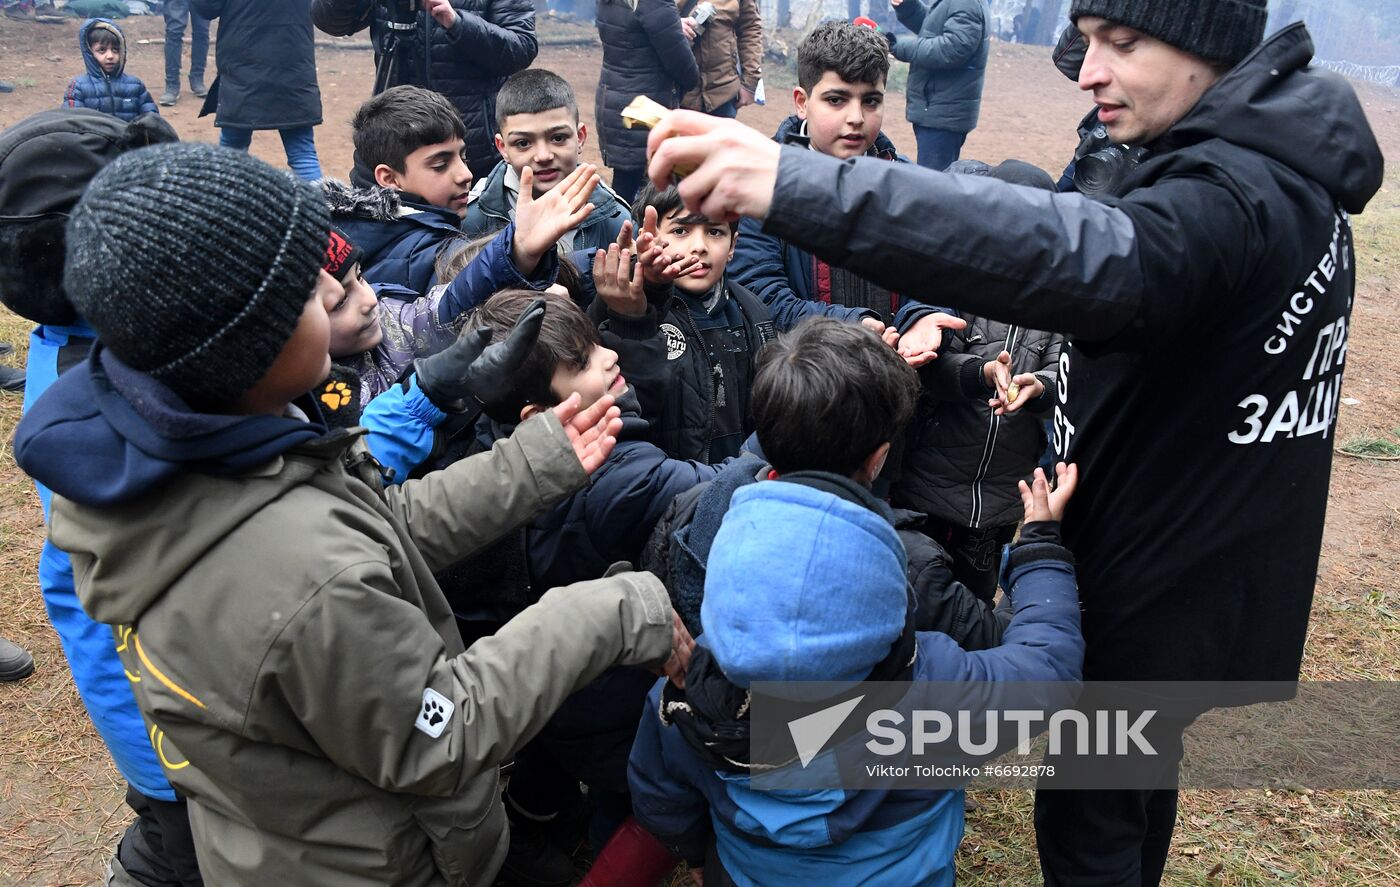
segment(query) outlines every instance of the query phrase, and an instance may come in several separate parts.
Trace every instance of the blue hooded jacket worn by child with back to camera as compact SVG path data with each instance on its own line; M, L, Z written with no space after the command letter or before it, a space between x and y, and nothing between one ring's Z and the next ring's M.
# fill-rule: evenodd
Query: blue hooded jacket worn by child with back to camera
M721 529L706 582L706 634L697 644L714 651L727 672L738 666L752 680L811 680L819 662L834 669L833 680L850 677L841 672L851 662L822 644L844 639L869 651L888 649L886 638L903 618L895 611L903 609L902 575L886 568L888 588L851 589L846 618L833 606L825 616L802 610L804 595L826 586L833 571L850 579L853 564L889 560L893 530L854 515L846 506L851 498L836 506L820 501L836 498L829 492L806 490L795 497L784 490L791 485L778 480L735 494L741 511L731 515L756 525L781 518L784 532L764 537L739 525L731 533ZM806 506L794 506L797 499ZM1030 539L1058 537L1058 525L1032 526L1043 529ZM806 561L797 562L792 539L820 539L822 544L798 548ZM725 554L722 546L735 550ZM721 562L724 569L715 574ZM1078 681L1084 638L1068 553L1051 541L1019 546L1011 557L1008 588L1015 614L1001 646L966 652L948 635L921 631L913 680ZM735 610L735 618L711 616L708 610L720 603L717 595L728 599L725 606ZM869 606L889 611L878 618ZM794 613L805 621L780 618ZM820 624L813 627L813 618ZM743 625L763 631L745 632ZM732 637L717 637L721 632ZM762 646L760 634L766 638ZM815 644L809 644L811 635ZM805 649L816 662L804 659ZM633 744L629 783L638 821L673 853L692 863L703 860L713 831L718 862L741 886L756 884L759 877L766 887L953 884L953 853L963 831L962 790L755 790L748 775L708 767L678 728L662 723L659 704L658 683Z

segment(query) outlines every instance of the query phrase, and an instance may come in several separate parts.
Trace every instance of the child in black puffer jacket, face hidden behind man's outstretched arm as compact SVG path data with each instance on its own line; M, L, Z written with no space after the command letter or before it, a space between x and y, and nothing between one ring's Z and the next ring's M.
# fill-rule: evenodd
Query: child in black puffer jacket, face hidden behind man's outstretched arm
M949 172L1054 190L1049 173L1021 161L994 169L958 161ZM920 369L924 396L890 501L928 515L923 532L952 554L953 575L990 603L1001 550L1021 519L1016 481L1030 478L1046 449L1043 420L1054 407L1064 336L963 319L967 327Z

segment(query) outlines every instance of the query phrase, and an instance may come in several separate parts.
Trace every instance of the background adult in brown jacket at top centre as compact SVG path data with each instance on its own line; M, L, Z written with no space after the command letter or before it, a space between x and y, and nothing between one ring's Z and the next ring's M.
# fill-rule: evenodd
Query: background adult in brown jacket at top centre
M697 24L696 7L703 1L714 14ZM753 104L753 91L763 77L759 0L682 0L680 13L680 29L700 66L700 85L686 92L680 106L717 118L738 116L739 108Z

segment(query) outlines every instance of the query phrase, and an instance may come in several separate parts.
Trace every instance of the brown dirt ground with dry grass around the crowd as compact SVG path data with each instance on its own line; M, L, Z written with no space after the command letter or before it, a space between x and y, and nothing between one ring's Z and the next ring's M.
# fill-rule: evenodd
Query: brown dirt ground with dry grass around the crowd
M158 94L162 24L158 17L122 21L130 43L127 70ZM592 123L596 46L580 45L591 28L542 29L536 64L563 74ZM316 132L322 166L350 168L350 116L372 81L364 39L321 36L325 123ZM566 43L566 42L573 43ZM335 45L335 46L332 46ZM211 63L213 64L213 63ZM83 70L77 22L20 24L0 18L0 127L56 106L67 80ZM210 77L211 78L211 77ZM769 105L741 120L771 133L788 113L791 74L770 70ZM1358 91L1389 157L1400 155L1400 92ZM997 45L991 55L980 127L965 157L1015 157L1058 173L1075 146L1074 127L1089 102L1049 63L1044 48ZM885 130L913 154L903 97L892 94ZM197 118L186 94L162 113L186 140L216 141L213 118ZM253 151L281 165L273 133ZM598 162L592 144L585 150ZM1400 176L1392 175L1372 207L1355 220L1359 287L1343 396L1338 441L1400 434ZM27 325L0 312L0 339L22 365ZM1389 346L1389 347L1387 347ZM1189 358L1189 354L1186 355ZM1163 404L1166 407L1166 404ZM8 452L20 399L0 396L0 632L34 652L34 677L0 686L0 884L90 884L129 816L122 785L73 690L57 638L35 582L42 519L32 487ZM1400 679L1400 462L1338 456L1333 470L1323 560L1308 641L1305 677ZM1037 883L1026 793L977 793L959 856L960 883ZM1386 884L1400 883L1400 792L1189 792L1168 869L1169 884Z

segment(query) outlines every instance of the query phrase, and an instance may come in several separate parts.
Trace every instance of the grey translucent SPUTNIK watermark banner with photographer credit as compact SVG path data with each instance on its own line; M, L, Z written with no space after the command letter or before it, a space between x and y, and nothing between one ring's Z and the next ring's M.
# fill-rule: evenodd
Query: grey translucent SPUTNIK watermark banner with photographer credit
M1400 683L752 686L773 789L1400 789Z

